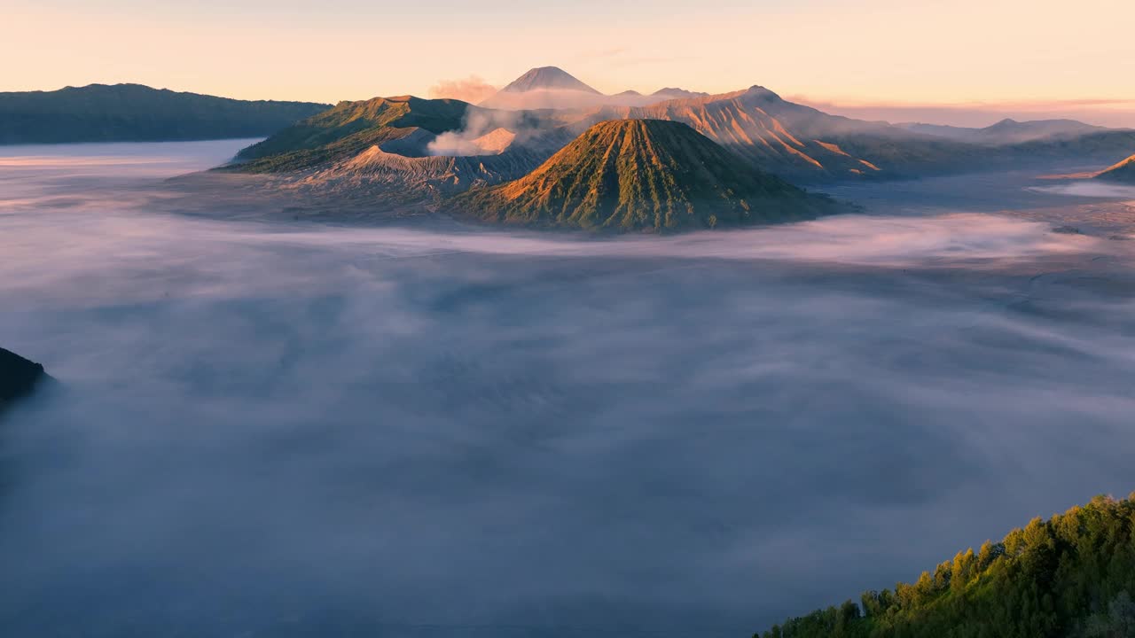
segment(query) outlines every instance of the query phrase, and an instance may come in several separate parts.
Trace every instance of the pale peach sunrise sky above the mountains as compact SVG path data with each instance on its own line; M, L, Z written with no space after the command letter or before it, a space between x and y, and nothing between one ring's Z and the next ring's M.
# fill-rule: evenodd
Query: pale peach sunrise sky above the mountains
M136 82L244 99L428 95L555 65L605 92L762 84L832 110L1135 126L1130 0L0 0L0 91ZM15 62L15 64L12 64ZM882 109L882 110L880 110ZM953 109L957 111L957 109ZM942 114L933 115L939 111ZM889 117L902 119L901 117ZM958 121L981 124L982 121Z

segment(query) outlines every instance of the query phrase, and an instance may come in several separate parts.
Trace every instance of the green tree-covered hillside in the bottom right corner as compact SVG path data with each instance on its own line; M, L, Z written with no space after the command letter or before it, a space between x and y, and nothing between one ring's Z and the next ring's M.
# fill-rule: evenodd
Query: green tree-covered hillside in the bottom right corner
M760 638L1130 638L1135 494L1096 497Z

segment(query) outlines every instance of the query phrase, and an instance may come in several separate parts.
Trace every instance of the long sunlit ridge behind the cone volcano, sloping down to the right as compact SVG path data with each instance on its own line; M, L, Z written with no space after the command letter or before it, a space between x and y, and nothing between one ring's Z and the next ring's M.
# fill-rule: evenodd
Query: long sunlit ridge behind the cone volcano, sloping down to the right
M646 107L563 112L560 118L580 127L619 118L683 121L757 168L800 182L917 177L1052 159L1098 160L1135 144L1133 131L1095 128L1001 146L977 144L885 121L832 116L783 100L763 86Z

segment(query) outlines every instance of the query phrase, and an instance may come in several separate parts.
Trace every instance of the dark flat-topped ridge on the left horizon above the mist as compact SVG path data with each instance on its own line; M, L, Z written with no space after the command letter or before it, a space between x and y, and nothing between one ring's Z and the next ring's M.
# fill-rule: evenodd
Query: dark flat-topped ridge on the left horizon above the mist
M140 84L0 93L0 144L261 137L329 108L244 101Z

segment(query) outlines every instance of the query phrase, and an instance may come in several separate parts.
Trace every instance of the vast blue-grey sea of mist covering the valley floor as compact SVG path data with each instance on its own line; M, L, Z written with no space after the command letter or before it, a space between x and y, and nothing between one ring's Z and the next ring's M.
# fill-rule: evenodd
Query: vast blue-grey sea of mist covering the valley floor
M242 145L0 158L5 635L748 636L1135 488L1132 242L163 208Z

